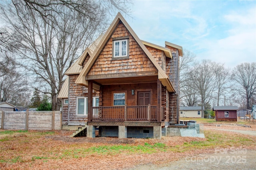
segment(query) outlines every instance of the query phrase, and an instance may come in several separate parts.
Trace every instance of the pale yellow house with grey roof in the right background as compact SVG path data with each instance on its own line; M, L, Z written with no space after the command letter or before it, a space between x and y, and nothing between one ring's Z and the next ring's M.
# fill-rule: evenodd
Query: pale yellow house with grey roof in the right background
M202 117L201 106L180 106L180 117Z

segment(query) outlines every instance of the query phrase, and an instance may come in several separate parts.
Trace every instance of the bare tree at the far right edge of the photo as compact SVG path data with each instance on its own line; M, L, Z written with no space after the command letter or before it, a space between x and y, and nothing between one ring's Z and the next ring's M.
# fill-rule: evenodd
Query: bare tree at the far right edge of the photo
M237 84L238 93L246 99L246 108L250 109L250 100L256 95L256 63L237 65L231 79Z

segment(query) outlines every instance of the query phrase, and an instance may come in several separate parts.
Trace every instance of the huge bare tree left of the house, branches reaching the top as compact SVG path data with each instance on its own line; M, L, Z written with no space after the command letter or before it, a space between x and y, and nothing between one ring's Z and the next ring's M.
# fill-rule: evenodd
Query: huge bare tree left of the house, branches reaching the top
M12 0L1 6L10 40L18 43L20 64L34 76L34 88L51 95L53 110L60 107L57 96L64 72L106 28L111 10L128 12L124 4L124 0Z

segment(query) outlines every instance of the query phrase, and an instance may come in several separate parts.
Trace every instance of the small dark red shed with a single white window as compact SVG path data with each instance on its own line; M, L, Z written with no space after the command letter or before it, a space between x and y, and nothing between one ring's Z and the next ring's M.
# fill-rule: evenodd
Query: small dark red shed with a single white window
M237 121L237 106L213 106L216 121Z

